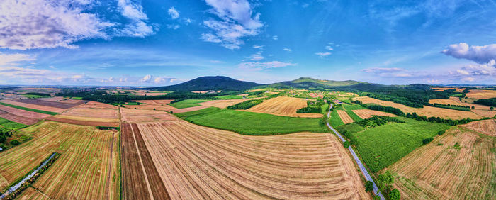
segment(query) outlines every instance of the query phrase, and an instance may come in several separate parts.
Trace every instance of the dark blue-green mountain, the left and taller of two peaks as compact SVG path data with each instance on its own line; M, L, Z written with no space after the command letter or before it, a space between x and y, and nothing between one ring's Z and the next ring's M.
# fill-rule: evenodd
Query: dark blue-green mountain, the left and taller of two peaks
M244 82L230 77L198 77L188 82L175 84L164 87L152 87L152 90L168 90L168 91L205 91L205 90L247 90L253 87L261 86L254 82Z

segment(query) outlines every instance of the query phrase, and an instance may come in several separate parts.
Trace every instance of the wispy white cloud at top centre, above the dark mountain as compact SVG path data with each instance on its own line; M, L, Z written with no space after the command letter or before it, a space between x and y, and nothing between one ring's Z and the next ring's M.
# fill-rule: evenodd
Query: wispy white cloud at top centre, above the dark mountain
M201 39L206 42L220 43L228 49L239 49L244 45L242 38L259 34L263 26L260 14L254 13L247 0L205 0L212 6L210 13L220 20L209 19L203 24L213 33L203 33Z

